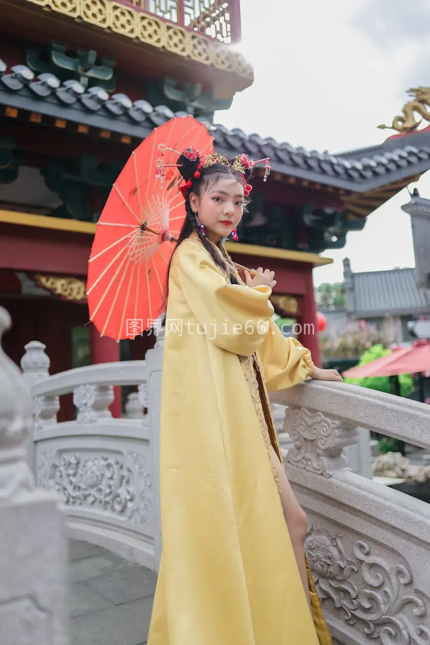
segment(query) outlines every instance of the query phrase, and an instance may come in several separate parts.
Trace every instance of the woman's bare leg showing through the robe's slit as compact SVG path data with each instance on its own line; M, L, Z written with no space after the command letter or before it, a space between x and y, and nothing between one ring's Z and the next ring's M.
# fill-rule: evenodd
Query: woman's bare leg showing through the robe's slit
M310 610L311 599L309 596L308 573L306 572L304 553L304 541L306 538L306 532L308 531L308 518L298 503L295 494L293 493L293 489L291 488L291 484L288 481L288 477L285 474L284 468L282 467L279 457L273 448L272 454L279 474L279 485L281 489L280 502L282 504L282 510L284 511L289 537L291 539L294 555L297 560L298 571L300 573L300 578L302 579L304 592L306 593L306 599L308 600Z

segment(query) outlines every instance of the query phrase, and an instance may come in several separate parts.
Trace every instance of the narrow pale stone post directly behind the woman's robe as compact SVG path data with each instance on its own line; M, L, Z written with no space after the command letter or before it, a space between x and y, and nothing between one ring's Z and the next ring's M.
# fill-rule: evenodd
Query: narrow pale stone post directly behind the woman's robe
M148 417L150 424L150 446L153 472L153 512L154 512L154 557L155 570L159 570L161 557L161 508L160 508L160 411L161 411L161 370L164 350L164 328L154 328L157 341L153 349L145 355L148 367L148 392L150 401ZM146 394L146 393L145 393ZM144 392L139 390L139 400L145 405Z

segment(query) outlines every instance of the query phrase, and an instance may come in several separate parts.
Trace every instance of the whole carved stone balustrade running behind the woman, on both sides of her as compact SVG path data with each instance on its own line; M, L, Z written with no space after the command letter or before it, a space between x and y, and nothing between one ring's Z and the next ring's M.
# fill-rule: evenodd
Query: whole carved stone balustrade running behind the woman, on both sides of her
M41 344L26 346L39 486L63 496L72 537L157 570L162 336L145 361L54 376L48 363ZM131 384L139 392L113 419L112 387ZM58 423L68 392L76 419ZM370 430L430 447L430 406L315 381L271 401L289 437L286 471L308 514L306 550L335 644L430 644L430 506L374 482L369 450Z

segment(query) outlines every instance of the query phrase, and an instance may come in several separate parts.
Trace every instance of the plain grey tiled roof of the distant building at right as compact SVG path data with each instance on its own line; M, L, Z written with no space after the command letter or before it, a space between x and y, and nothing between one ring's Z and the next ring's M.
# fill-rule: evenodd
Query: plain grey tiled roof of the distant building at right
M413 269L352 273L351 277L355 317L430 312L430 295L417 288Z

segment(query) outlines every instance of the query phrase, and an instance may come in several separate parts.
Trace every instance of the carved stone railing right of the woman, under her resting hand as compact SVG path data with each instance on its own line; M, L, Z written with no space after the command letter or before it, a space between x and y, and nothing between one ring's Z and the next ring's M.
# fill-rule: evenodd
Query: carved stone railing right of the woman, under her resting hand
M335 642L430 643L430 505L358 476L346 457L369 430L429 448L430 406L315 381L271 400L288 406L286 471Z

